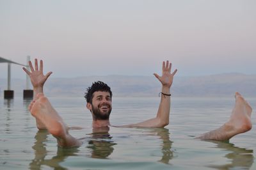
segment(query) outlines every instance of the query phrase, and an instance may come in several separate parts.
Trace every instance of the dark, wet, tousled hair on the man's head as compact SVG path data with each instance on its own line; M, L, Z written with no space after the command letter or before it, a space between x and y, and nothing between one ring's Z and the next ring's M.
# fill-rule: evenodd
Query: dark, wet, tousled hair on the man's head
M110 97L112 99L112 91L109 88L108 84L102 82L102 81L97 81L97 82L93 82L92 86L88 87L86 89L86 93L84 93L84 98L86 99L87 103L92 104L92 98L93 98L93 93L95 91L106 91L109 92Z

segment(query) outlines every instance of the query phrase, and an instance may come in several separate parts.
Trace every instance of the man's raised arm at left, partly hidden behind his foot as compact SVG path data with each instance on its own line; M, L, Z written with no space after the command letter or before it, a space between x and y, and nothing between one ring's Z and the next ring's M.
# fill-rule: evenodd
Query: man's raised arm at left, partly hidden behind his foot
M23 70L29 75L30 81L33 85L33 91L34 91L34 100L38 93L44 92L44 83L47 81L48 77L51 75L52 72L48 72L46 75L43 73L43 61L40 60L40 68L38 69L38 61L35 59L35 69L29 61L29 67L31 72L23 67ZM36 126L40 130L45 130L46 127L44 123L42 123L40 120L36 119Z

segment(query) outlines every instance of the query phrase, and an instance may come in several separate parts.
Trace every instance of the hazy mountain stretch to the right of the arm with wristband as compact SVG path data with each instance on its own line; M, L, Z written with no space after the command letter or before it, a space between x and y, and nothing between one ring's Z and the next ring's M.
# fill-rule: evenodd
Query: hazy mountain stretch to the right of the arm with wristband
M173 84L174 85L174 84ZM239 91L256 97L256 75L223 73L200 77L177 77L173 91L184 96L230 96Z

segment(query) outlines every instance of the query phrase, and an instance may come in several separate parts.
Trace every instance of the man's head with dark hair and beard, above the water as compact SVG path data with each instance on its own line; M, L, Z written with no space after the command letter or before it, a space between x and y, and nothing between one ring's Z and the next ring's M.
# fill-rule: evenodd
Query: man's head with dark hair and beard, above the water
M109 86L101 81L93 82L86 91L86 107L92 112L93 119L108 120L112 109L112 91Z

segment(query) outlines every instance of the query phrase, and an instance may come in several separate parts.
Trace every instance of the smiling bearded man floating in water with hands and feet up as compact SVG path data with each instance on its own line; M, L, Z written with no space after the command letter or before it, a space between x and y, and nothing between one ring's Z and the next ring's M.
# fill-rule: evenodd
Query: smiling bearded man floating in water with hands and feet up
M40 60L39 69L37 59L35 59L35 69L31 61L29 61L29 66L31 72L26 70L26 68L23 68L23 70L28 73L33 84L35 95L33 102L29 105L29 111L36 118L38 129L47 129L54 137L56 137L59 146L80 146L81 141L68 133L67 125L43 94L44 83L52 72L44 75L42 60ZM165 127L169 124L170 88L172 86L173 77L177 72L176 69L171 73L171 69L172 63L166 61L163 62L162 75L160 76L157 73L154 73L155 77L162 84L161 102L156 118L121 127ZM236 104L230 116L230 120L220 128L200 135L198 139L226 141L234 135L241 134L252 128L252 123L250 121L252 108L239 93L236 93L235 97ZM92 112L92 127L102 128L111 126L109 123L109 114L112 108L112 92L109 86L104 84L104 82L95 82L87 89L85 98L87 101L86 107Z

